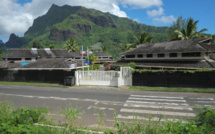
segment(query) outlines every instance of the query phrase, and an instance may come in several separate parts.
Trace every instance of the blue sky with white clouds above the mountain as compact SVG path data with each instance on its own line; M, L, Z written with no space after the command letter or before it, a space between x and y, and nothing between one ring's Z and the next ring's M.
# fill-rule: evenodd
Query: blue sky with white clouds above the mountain
M6 42L11 33L22 37L52 4L84 6L152 26L171 26L180 16L192 17L199 21L198 30L215 34L215 0L1 0L0 40Z

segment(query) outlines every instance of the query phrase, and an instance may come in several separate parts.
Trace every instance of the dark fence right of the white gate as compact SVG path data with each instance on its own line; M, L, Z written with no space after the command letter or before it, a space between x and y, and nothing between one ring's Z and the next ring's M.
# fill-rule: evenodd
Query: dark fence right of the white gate
M133 73L133 86L215 88L215 72Z

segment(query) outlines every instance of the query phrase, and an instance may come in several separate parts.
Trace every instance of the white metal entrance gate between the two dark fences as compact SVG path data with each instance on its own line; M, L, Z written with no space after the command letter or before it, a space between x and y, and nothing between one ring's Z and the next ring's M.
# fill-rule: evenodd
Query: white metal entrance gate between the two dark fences
M130 68L121 71L76 71L76 85L122 86L131 85Z

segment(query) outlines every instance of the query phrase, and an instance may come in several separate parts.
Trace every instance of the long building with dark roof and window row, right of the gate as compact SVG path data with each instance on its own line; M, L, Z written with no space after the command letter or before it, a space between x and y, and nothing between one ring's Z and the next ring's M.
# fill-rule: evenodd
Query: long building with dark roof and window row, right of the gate
M215 69L215 44L210 38L196 38L161 43L141 44L121 53L112 66L135 62L138 68L150 69Z

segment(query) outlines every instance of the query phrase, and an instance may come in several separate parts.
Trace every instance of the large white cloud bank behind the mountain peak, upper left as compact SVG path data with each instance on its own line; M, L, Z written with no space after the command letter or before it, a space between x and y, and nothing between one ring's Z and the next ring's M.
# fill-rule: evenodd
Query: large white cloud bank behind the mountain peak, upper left
M110 12L119 17L127 17L127 14L120 10L117 0L32 0L25 4L18 4L17 0L1 0L0 38L11 33L22 36L33 24L33 20L44 15L52 4L84 6Z

